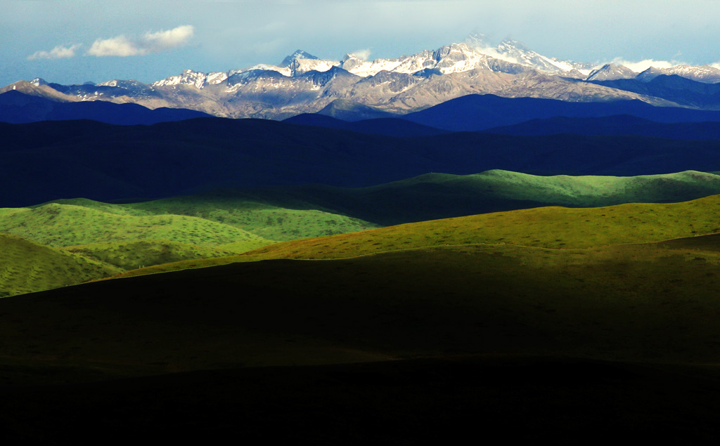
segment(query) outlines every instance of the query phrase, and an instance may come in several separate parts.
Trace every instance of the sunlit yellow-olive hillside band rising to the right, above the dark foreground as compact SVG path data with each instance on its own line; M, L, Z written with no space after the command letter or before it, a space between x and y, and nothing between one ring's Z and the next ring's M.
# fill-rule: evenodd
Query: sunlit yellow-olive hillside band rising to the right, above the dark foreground
M294 240L230 258L158 265L131 274L272 258L333 259L447 245L586 248L660 242L720 232L720 196L670 204L544 207L400 224L353 234Z

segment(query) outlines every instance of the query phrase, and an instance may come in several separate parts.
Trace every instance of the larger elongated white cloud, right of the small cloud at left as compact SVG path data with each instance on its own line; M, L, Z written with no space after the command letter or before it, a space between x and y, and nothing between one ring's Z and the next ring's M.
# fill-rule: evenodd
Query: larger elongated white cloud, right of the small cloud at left
M130 39L125 35L98 39L93 42L86 55L127 57L159 53L185 45L194 32L194 27L188 24L167 31L146 32L138 39Z

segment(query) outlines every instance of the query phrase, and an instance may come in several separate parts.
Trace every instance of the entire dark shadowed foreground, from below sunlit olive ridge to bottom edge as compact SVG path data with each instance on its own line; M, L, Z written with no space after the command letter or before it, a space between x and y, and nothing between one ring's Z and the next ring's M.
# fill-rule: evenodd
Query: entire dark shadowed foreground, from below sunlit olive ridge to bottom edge
M720 377L688 363L717 361L716 238L272 260L2 299L4 436L414 442L481 419L508 438L708 440ZM263 365L283 367L247 368Z

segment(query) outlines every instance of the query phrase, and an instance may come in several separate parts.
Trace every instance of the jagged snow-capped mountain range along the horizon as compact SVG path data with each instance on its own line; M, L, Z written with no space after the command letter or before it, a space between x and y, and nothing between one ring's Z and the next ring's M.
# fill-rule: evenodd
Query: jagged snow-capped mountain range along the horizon
M667 80L664 89L655 88L658 78L670 79L670 90L682 90L688 88L687 82L696 82L705 85L700 90L712 95L717 89L720 93L720 70L707 65L649 68L635 73L622 65L550 58L515 40L492 45L482 34L392 59L365 60L361 55L346 54L341 60L323 60L297 50L279 65L259 64L215 73L188 69L150 84L116 79L96 85L62 86L40 78L30 84L36 88L33 91L41 86L50 88L67 101L135 102L150 108L181 107L223 117L284 118L318 111L333 114L338 107L402 114L466 94L564 101L639 99L659 105L720 109L715 99L668 93ZM24 88L22 82L13 86Z

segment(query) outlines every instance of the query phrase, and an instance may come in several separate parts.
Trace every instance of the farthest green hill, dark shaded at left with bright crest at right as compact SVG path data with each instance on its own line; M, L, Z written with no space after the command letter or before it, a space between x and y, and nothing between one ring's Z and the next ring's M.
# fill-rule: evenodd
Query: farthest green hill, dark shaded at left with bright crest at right
M488 170L474 175L429 173L367 188L308 185L234 194L276 206L309 206L392 225L540 206L688 201L720 194L720 176L696 171L632 177L534 176Z

